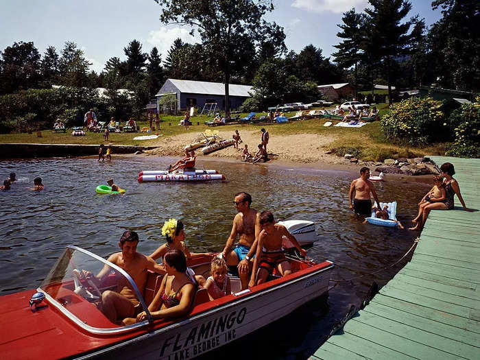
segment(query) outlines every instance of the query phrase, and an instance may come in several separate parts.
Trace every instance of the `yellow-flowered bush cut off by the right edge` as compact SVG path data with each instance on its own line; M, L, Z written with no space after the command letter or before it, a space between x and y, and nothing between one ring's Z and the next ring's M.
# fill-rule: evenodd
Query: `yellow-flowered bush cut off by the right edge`
M446 154L464 158L480 158L480 97L475 104L463 104L449 117L455 127L455 140Z

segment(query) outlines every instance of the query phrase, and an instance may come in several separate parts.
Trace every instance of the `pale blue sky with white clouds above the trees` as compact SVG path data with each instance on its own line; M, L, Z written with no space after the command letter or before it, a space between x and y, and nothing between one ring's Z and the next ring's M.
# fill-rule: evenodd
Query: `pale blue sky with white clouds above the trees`
M360 12L366 0L274 0L267 21L284 27L288 50L297 53L313 44L330 56L340 42L336 34L343 12ZM431 0L411 0L409 16L424 18L427 25L441 18ZM123 48L136 39L149 52L157 47L162 59L173 40L200 42L189 27L160 23L160 6L154 0L0 0L0 51L14 42L33 41L43 56L49 46L60 53L66 41L77 43L100 72L109 58L125 59Z

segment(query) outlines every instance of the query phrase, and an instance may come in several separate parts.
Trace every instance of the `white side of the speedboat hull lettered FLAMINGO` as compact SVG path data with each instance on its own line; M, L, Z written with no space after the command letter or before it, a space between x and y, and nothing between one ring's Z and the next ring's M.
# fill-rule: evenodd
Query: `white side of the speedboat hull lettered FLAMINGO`
M193 315L184 322L132 339L128 344L110 346L80 359L119 357L121 359L191 359L215 350L288 315L328 290L333 264L300 278L256 293L247 293L236 301ZM269 284L272 285L272 284ZM275 299L275 301L272 301ZM218 300L214 300L219 302Z

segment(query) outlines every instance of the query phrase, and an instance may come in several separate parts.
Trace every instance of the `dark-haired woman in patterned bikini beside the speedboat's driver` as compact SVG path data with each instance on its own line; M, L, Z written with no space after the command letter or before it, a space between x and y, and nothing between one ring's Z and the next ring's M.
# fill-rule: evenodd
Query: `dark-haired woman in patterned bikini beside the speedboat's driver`
M148 311L154 319L174 319L187 315L193 306L197 283L187 272L187 259L180 250L170 250L163 263L167 274L163 276L160 289L149 304ZM141 311L136 317L123 320L124 324L134 324L147 320L147 313Z

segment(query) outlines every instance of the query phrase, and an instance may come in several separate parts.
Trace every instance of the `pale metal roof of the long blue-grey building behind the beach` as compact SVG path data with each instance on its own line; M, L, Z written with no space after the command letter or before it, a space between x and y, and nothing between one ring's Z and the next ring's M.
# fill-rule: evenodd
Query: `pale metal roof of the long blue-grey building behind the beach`
M193 80L178 80L178 79L167 79L171 82L180 93L191 93L191 94L206 94L206 95L225 95L225 84L221 82L204 82L204 81L193 81ZM252 91L252 86L249 85L228 85L230 96L241 96L241 97L250 97L249 91ZM161 90L161 89L160 89ZM162 95L160 91L156 96Z

